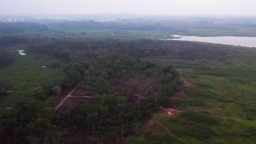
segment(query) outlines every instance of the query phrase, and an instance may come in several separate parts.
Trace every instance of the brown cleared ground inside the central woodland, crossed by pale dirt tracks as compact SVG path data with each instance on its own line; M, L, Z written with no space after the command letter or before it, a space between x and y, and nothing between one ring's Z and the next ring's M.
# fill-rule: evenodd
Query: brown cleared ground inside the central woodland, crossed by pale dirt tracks
M131 88L132 92L128 96L128 101L136 102L147 96L149 88L153 88L154 91L158 91L160 86L160 76L151 76L148 78L130 78L129 80L120 80L119 84L115 84L114 80L110 80L112 88L110 89L110 94L124 96L128 94L128 89ZM90 103L92 102L92 97L96 92L91 90L86 91L87 82L84 79L76 87L72 87L65 92L60 94L60 104L56 106L55 111L58 109L67 110L68 107L72 107L78 104ZM122 89L123 92L119 92ZM104 94L103 94L104 95Z

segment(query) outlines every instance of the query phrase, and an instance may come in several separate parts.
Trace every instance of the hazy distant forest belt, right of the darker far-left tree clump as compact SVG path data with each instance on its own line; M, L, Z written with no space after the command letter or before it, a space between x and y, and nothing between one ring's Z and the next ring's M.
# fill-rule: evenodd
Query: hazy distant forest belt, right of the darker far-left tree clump
M209 29L209 30L235 30L234 27L255 27L254 23L238 20L223 22L216 19L178 19L178 20L148 20L148 19L118 19L116 21L97 22L94 20L82 21L60 21L47 24L52 29L62 30L86 30L86 29L110 29L110 30L187 30L187 29Z

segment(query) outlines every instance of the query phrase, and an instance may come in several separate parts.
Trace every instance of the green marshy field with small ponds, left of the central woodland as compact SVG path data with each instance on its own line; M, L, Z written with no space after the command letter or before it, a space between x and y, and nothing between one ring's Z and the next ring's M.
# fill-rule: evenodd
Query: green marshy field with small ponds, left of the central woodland
M32 97L33 92L42 90L41 84L64 76L63 67L50 68L54 58L29 52L28 46L18 45L8 50L25 50L27 55L20 56L17 51L11 52L13 62L0 68L0 84L8 92L0 98L0 112L6 107L13 107L17 102ZM45 68L40 68L46 66Z

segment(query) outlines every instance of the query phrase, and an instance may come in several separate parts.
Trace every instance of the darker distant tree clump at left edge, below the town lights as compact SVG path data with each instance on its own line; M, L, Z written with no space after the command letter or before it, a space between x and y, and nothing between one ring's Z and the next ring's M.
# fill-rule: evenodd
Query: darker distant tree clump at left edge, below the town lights
M0 22L0 33L16 33L26 31L46 31L48 27L45 24L34 22Z

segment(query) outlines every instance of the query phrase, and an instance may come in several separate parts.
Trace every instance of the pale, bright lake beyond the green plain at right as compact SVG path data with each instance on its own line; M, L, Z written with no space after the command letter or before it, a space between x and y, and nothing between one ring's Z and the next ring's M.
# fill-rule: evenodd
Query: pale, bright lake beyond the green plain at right
M228 44L233 46L256 47L256 37L238 37L238 36L215 36L215 37L199 37L199 36L179 36L171 35L175 38L167 40L186 40L196 42L210 42L214 44Z

